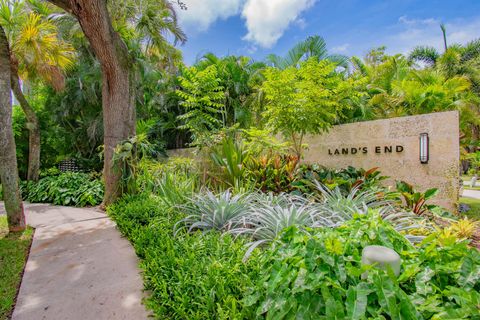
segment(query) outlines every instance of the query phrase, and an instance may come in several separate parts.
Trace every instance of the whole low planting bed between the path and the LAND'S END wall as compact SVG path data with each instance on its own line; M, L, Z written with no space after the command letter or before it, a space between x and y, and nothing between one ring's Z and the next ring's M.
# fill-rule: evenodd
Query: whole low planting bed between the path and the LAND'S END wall
M311 192L274 193L238 183L209 190L198 163L182 159L144 165L146 189L108 213L141 259L157 318L475 319L480 263L468 245L471 222L441 227L431 212L410 212L398 192L379 187L376 170L332 171L332 180L351 182L311 179ZM219 172L216 182L248 176ZM397 251L400 277L362 266L367 245Z

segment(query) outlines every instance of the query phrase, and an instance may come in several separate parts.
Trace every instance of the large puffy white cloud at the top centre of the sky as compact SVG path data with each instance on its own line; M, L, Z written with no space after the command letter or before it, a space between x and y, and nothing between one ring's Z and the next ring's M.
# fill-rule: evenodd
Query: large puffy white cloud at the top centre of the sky
M247 0L242 10L248 33L244 40L272 47L288 26L316 0ZM301 22L300 22L301 24Z

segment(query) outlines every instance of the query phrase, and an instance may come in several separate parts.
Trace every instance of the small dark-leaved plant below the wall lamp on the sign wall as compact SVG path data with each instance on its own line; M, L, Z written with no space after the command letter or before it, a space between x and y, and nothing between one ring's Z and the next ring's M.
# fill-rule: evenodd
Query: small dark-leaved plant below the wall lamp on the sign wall
M438 189L432 188L425 192L414 189L413 185L405 181L397 181L397 191L405 201L405 206L417 215L422 215L433 206L428 205L427 201L438 194Z

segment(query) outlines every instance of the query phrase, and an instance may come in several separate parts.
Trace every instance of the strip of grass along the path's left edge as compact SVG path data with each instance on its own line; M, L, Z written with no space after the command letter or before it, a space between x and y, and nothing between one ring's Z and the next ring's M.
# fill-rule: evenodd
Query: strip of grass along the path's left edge
M7 217L0 216L0 320L12 312L32 236L31 228L9 234Z

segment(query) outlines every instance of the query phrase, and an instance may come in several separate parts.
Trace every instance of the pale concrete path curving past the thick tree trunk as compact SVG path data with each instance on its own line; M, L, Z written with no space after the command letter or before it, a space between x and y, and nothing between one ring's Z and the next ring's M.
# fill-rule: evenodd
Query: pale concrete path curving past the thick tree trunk
M36 230L13 320L147 318L135 252L105 213L46 204L25 212Z

